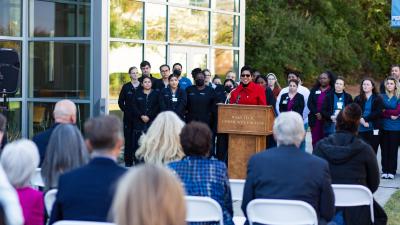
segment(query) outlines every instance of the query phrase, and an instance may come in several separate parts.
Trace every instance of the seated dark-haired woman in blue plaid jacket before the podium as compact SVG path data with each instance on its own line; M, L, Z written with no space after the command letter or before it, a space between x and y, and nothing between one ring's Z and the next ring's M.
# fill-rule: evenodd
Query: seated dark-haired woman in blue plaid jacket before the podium
M232 196L226 166L215 158L208 158L211 136L206 124L187 124L180 134L186 157L168 166L181 178L187 195L214 199L221 205L224 224L233 225Z

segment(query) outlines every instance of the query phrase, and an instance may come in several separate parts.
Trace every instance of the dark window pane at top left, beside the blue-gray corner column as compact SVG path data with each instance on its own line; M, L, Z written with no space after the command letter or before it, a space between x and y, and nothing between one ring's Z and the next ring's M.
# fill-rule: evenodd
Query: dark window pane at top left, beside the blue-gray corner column
M67 4L35 0L31 36L88 37L90 36L90 5Z

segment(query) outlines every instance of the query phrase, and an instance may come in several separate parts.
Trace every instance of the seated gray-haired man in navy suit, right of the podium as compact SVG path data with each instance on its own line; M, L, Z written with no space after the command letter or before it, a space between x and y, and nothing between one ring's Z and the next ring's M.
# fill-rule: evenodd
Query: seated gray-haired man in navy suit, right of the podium
M248 163L242 211L253 199L290 199L310 204L319 224L335 213L328 163L299 149L305 131L296 112L281 113L274 122L278 147L253 155Z

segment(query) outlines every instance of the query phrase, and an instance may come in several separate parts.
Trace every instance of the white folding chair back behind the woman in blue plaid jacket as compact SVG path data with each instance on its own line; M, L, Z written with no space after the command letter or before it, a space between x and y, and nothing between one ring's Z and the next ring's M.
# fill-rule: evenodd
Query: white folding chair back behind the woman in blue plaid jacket
M199 196L185 196L186 222L210 222L218 221L224 224L222 208L212 198Z

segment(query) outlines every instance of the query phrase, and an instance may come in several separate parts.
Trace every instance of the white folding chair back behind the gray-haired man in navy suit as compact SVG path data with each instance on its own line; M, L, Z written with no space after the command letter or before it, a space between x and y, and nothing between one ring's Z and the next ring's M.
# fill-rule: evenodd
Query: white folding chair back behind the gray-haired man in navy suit
M314 208L303 201L254 199L247 205L246 211L250 225L253 223L318 225Z

